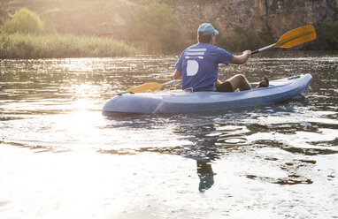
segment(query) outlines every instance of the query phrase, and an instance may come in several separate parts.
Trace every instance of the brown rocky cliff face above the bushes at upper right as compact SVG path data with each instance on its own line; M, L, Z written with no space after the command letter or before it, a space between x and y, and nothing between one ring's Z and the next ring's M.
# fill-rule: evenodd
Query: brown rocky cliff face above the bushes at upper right
M174 2L174 3L173 3ZM338 0L213 0L166 1L179 13L188 29L211 22L225 34L252 28L274 36L304 25L320 27L337 20Z

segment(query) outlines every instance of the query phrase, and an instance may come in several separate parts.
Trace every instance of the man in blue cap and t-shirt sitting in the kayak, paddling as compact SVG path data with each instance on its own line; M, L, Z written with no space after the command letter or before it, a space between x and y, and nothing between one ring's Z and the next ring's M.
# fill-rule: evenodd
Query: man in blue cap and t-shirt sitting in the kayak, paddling
M216 35L219 34L211 24L204 23L198 27L198 43L185 49L175 64L174 79L182 79L182 89L191 91L234 92L239 89L250 90L248 79L236 74L225 82L219 80L219 64L245 64L251 51L234 56L225 49L214 46ZM267 87L264 79L258 87Z

